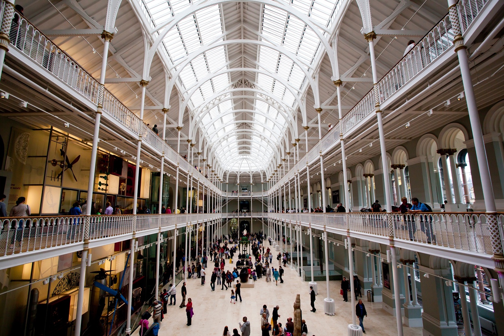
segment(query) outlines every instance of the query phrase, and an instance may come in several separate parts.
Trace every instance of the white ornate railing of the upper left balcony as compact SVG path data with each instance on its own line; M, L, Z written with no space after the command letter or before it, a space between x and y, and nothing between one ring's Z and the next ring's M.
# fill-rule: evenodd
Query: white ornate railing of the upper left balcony
M2 9L4 8L5 1L2 2ZM4 14L3 11L0 13ZM66 83L94 104L98 104L99 82L26 18L19 13L18 15L20 19L18 22L12 22L9 33L11 47L17 48L60 81ZM142 135L143 141L154 148L158 155L164 152L168 159L174 163L183 161L171 146L166 144L161 137L107 89L104 89L103 92L103 111L124 127L132 130L137 136ZM184 166L184 170L192 172L200 180L206 180L214 191L218 191L217 187L193 167Z

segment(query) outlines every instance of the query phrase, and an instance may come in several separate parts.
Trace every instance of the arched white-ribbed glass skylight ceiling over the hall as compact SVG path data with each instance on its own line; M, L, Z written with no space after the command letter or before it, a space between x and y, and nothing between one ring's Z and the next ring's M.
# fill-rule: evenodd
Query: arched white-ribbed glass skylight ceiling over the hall
M191 5L198 4L189 0L139 0L139 3L153 29ZM327 28L331 28L340 5L339 1L327 0L283 0L279 3L292 6L316 20L318 25ZM180 71L183 61L191 52L226 40L225 18L242 14L236 7L234 13L228 13L229 10L223 13L222 8L219 5L205 7L179 21L166 34L160 48L169 60L168 66L172 74ZM259 20L260 31L256 38L295 54L298 64L310 73L322 49L318 36L300 19L269 5L262 6ZM202 116L198 126L205 141L213 147L221 167L228 172L254 173L267 169L288 132L288 121L279 110L294 117L298 111L296 98L303 96L307 85L305 73L291 58L271 47L254 45L254 48L257 59L253 62L257 64L255 68L262 73L248 72L247 78L251 74L255 81L248 81L247 87L261 93L239 90L229 92L230 89L243 87L245 81L238 81L241 85L236 81L231 83L231 73L225 72L230 69L230 63L234 59L242 57L241 54L230 55L226 45L199 54L180 71L177 79L182 91L179 91L181 98L187 101L193 118ZM217 72L221 74L204 81L209 74ZM277 75L291 89L268 74ZM193 90L195 85L198 86L197 90ZM232 98L243 95L247 95L246 98L241 98L247 104L238 104L240 107L235 108L233 104L237 100ZM215 101L209 104L209 99ZM243 109L251 112L244 112ZM235 113L235 110L239 112ZM246 120L252 122L241 121L243 112L247 114ZM291 136L287 139L290 140Z

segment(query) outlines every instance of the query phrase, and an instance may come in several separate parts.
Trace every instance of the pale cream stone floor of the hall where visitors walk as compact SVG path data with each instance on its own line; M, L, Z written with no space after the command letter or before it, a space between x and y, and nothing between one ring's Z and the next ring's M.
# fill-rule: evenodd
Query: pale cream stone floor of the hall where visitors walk
M233 260L236 262L237 257ZM276 260L273 264L278 266ZM210 263L209 266L213 263ZM226 264L225 269L232 267L230 263ZM232 270L232 268L231 268ZM236 304L229 303L231 290L221 290L217 286L212 292L210 288L210 277L207 276L205 286L201 285L201 279L187 280L187 297L193 300L194 316L191 326L186 326L187 319L185 309L179 308L180 287L177 286L177 304L168 306L168 312L165 314L159 336L185 336L193 335L222 335L224 326L227 325L232 332L233 328L238 328L238 322L241 322L243 316L247 316L250 321L251 335L261 335L259 311L264 304L268 306L270 314L273 307L280 306L279 321L285 325L287 317L293 316L293 303L296 294L301 295L302 318L306 320L308 335L347 335L348 324L352 322L351 303L343 302L340 296L340 282L331 281L329 290L331 297L336 301L336 315L329 316L324 314L324 298L326 297L326 282L318 282L319 294L315 301L317 312L310 311L309 285L308 282L301 281L296 272L287 265L284 273L284 283L278 286L274 282L266 283L265 278L258 279L255 282L255 288L242 288L241 297L243 302ZM397 334L396 318L381 309L381 303L364 302L368 317L364 318L364 328L367 335L389 336ZM271 318L271 317L270 317ZM152 323L152 321L150 321ZM358 319L357 319L358 323ZM138 334L138 329L134 334ZM407 336L420 336L422 328L409 328L404 326L404 334Z

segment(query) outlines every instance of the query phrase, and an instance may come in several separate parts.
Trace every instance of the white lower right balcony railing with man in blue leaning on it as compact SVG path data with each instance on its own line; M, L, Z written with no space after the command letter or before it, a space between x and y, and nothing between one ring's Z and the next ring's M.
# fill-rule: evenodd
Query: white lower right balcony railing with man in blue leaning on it
M484 213L270 213L282 221L414 241L430 246L492 254ZM500 231L504 215L498 216ZM502 236L502 235L501 235Z

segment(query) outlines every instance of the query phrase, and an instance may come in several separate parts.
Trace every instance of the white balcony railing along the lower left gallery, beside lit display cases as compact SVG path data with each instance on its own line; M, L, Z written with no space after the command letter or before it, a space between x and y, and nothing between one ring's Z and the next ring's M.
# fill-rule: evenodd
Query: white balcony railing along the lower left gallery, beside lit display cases
M88 216L27 217L0 219L0 257L50 247L82 243ZM151 214L89 216L89 241L149 230L173 228L175 224L208 222L221 214Z

